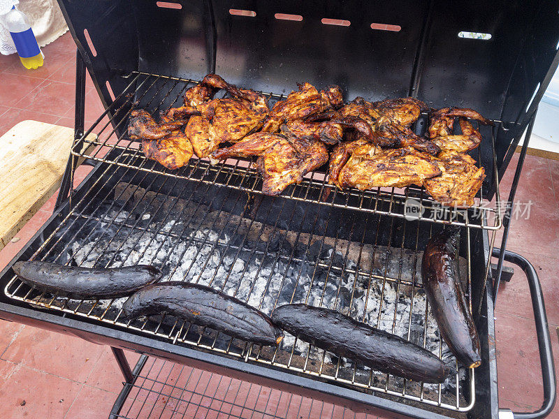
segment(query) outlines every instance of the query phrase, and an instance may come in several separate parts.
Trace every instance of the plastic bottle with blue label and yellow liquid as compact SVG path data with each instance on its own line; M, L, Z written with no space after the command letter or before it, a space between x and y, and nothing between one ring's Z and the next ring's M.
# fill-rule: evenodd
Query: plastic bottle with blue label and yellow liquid
M43 52L37 43L33 29L25 13L15 6L3 16L3 22L12 36L15 49L25 68L39 68L43 66Z

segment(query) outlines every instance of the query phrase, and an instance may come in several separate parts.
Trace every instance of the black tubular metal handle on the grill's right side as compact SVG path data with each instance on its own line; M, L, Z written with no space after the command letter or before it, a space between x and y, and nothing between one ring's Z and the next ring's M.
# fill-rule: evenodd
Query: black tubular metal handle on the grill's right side
M493 257L500 256L501 249L493 249ZM544 385L544 403L542 408L534 412L513 412L509 409L499 409L500 419L541 419L551 413L556 402L556 378L555 366L553 365L553 351L551 351L551 339L547 324L546 307L542 286L539 284L537 272L532 264L523 256L508 250L504 251L504 260L518 265L528 278L530 286L530 297L532 298L532 309L536 322L537 345L539 348L539 362L542 365L542 381Z

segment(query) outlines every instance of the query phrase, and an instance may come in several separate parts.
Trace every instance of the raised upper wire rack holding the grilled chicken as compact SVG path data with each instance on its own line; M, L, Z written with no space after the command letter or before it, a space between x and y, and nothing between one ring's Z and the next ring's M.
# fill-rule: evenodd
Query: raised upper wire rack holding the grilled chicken
M189 87L198 83L196 80L155 75L151 73L133 72L125 76L131 82L126 86L115 101L103 112L82 137L75 140L72 148L73 156L86 157L94 161L110 163L124 168L135 168L147 172L155 172L177 179L190 179L205 184L217 184L239 189L246 192L261 193L261 177L251 167L247 159L228 159L212 165L208 159L196 159L179 170L168 170L159 163L147 161L140 145L130 140L126 134L129 114L136 103L156 114L161 109L182 105L182 94ZM270 104L284 98L283 95L269 93ZM104 117L112 115L108 120ZM112 126L111 126L112 122ZM424 124L425 120L421 120ZM495 157L495 131L500 122L493 128L484 127L484 141L491 147L493 156L493 173L497 173ZM96 132L96 138L88 138L88 134ZM117 135L117 133L122 133ZM477 150L477 161L481 161L481 150ZM322 172L311 172L303 182L288 186L282 196L293 200L317 203L339 208L351 208L363 212L383 214L396 217L413 216L422 221L444 223L468 228L498 230L502 226L500 196L498 182L495 177L495 203L488 203L476 198L476 204L470 210L442 207L428 196L423 187L410 186L405 189L377 188L372 191L349 189L340 191L328 183L328 175ZM479 196L484 196L482 186ZM407 206L408 199L414 200ZM407 208L416 212L409 214ZM493 220L493 223L491 221Z

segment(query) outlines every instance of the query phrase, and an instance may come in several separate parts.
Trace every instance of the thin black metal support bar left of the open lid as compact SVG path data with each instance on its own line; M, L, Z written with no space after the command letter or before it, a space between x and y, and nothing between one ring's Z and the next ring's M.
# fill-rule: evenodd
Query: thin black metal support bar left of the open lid
M85 61L83 61L80 50L75 53L75 113L74 113L74 140L83 135L85 125ZM55 210L60 207L66 199L73 186L73 172L77 160L70 154L66 170L60 184Z

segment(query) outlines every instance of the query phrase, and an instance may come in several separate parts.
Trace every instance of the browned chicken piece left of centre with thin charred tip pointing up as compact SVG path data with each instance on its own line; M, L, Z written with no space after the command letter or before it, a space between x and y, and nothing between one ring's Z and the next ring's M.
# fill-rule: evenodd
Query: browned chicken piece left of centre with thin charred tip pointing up
M185 131L196 156L207 157L222 142L237 142L261 128L269 112L266 96L238 89L215 74L205 76L202 83L226 89L235 97L212 99L198 105L201 115L191 117Z

